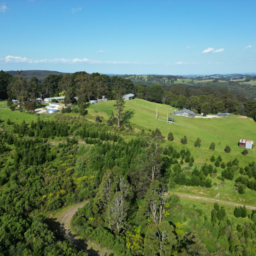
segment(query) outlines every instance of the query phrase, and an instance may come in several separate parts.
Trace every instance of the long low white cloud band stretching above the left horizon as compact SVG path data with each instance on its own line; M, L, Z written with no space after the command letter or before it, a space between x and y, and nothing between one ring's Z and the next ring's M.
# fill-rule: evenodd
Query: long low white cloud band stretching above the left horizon
M87 64L115 64L115 65L123 65L123 64L142 64L142 65L150 65L156 63L149 63L149 62L132 62L132 61L102 61L102 60L89 60L86 58L79 59L42 59L42 60L34 60L28 59L26 57L22 58L19 56L6 56L4 58L5 63L66 63L66 64L78 64L78 63L87 63Z

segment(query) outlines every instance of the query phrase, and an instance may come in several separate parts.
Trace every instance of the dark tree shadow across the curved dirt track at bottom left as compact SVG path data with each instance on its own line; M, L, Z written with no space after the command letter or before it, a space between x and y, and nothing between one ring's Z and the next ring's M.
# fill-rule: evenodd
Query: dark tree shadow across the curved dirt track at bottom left
M46 219L45 222L60 241L68 240L70 244L77 246L78 251L87 252L90 256L102 256L99 251L86 244L84 239L73 234L70 229L66 229L64 224L60 223L57 218ZM107 256L107 253L104 256Z

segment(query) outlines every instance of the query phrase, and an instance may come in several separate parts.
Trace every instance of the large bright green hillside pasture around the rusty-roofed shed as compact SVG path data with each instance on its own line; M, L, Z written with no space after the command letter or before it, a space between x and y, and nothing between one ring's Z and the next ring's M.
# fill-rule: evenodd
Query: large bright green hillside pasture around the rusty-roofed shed
M88 118L95 120L96 116L103 116L103 122L106 122L114 110L115 101L103 101L91 104L88 108ZM156 120L156 107L158 119ZM222 118L188 118L183 116L174 116L175 123L166 124L167 118L171 117L172 109L168 105L155 104L146 100L134 99L125 100L124 121L129 121L139 130L159 128L164 136L168 136L170 131L174 134L174 141L168 142L178 148L184 145L180 143L184 135L188 138L188 147L193 150L195 159L204 163L206 158L210 158L212 151L209 146L215 142L215 154L221 153L229 161L236 156L240 161L252 161L256 157L255 149L249 150L249 155L243 156L242 148L238 147L240 139L256 141L256 123L251 118L240 118L239 116L228 116ZM97 112L95 112L97 111ZM201 148L195 148L194 142L199 137ZM218 143L220 142L220 145ZM224 148L229 145L231 153L224 153Z

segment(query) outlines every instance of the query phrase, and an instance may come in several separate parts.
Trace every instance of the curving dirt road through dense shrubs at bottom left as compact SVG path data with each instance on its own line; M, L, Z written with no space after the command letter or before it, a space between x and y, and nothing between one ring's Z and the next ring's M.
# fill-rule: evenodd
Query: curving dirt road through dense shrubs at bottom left
M71 230L70 223L72 216L76 213L78 208L82 208L86 203L87 202L83 202L72 205L71 207L58 212L52 217L52 220L55 223L54 226L66 237L66 239L75 244L79 250L87 252L90 256L108 256L111 251L106 248L101 248L98 244L89 241L85 242Z

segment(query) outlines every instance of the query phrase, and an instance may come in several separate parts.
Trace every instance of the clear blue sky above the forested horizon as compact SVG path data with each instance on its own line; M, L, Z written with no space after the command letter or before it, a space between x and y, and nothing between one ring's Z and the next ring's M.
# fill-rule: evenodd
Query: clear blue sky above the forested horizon
M256 73L256 1L0 2L0 69Z

